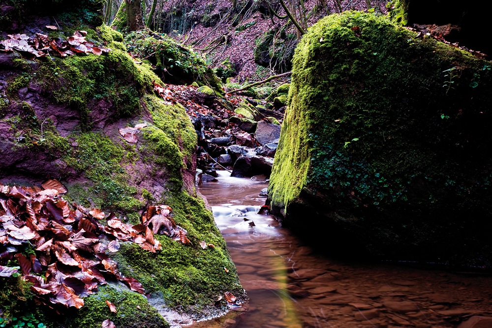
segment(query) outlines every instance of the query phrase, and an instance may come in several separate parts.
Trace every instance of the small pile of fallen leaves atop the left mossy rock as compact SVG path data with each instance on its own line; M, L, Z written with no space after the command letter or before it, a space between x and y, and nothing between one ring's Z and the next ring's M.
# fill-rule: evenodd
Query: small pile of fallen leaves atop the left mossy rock
M101 55L110 49L97 47L86 41L86 31L75 31L67 40L58 37L49 38L46 34L36 33L34 38L26 34L8 34L8 38L0 41L0 51L17 51L28 59L55 55L66 57L80 54Z

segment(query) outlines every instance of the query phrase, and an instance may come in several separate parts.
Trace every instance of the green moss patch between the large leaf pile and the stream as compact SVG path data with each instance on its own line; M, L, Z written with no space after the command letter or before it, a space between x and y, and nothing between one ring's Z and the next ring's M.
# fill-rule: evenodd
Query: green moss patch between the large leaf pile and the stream
M192 244L183 245L165 235L157 235L162 250L153 254L136 244L124 243L114 255L121 263L123 274L137 278L147 292L162 297L168 306L195 317L201 317L205 311L223 310L214 305L219 295L226 291L234 295L243 292L211 213L201 199L185 192L166 195L161 203L173 208L176 224L188 231ZM214 244L215 248L203 250L199 245L202 240ZM229 272L225 272L224 267Z

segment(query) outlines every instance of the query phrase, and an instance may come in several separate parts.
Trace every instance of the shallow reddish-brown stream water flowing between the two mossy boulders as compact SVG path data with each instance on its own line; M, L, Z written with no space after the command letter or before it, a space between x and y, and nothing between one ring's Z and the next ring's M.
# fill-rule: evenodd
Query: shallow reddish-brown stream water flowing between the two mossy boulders
M203 183L199 191L250 298L248 311L222 327L471 328L478 326L465 322L470 317L492 317L491 276L330 259L272 216L256 214L267 183L219 174L218 182ZM486 321L479 327L492 328L492 319Z

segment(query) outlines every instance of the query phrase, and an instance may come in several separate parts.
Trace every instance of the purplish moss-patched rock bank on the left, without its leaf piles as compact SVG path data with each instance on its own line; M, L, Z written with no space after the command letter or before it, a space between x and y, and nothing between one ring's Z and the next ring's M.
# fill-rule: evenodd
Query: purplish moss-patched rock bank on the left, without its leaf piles
M184 107L157 97L154 82L162 82L151 67L127 54L120 33L99 26L101 1L67 3L0 2L4 38L41 33L51 40L59 37L54 42L60 44L85 30L87 41L110 49L99 56L86 49L60 58L68 46L55 44L45 50L50 55L36 59L26 59L34 58L26 51L0 51L0 184L40 186L58 179L68 189L63 197L69 203L115 213L128 224L141 223L150 204L169 205L190 242L175 241L161 230L155 238L162 250L156 253L123 240L119 251L106 250L123 276L143 285L150 303L115 281L85 297L78 311L53 305L60 316L34 307L21 277L1 278L1 318L29 311L50 327L100 327L105 319L117 327L164 327L159 313L168 310L194 318L223 313L227 302L217 301L218 296L232 292L242 297L243 290L213 217L194 191L197 136ZM123 139L119 130L136 124L147 124L136 142ZM203 249L203 241L213 246ZM16 252L39 256L27 243ZM17 264L5 253L0 257L1 265ZM116 313L106 299L116 304Z

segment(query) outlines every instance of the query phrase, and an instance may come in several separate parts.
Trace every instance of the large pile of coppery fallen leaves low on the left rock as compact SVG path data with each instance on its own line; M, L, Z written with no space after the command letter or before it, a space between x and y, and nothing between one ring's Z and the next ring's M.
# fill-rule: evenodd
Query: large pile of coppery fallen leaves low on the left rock
M154 233L161 228L173 239L189 243L186 231L169 216L169 206L150 206L144 223L130 226L96 208L74 204L71 209L61 197L66 189L57 180L42 186L0 185L0 277L18 276L20 269L32 283L38 303L80 308L82 297L95 293L108 278L145 294L136 279L123 277L105 251L117 252L119 241L129 241L156 252L161 245ZM100 224L103 219L107 225ZM14 259L19 266L7 266Z

